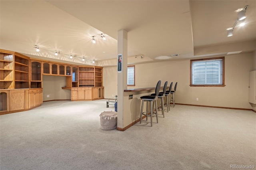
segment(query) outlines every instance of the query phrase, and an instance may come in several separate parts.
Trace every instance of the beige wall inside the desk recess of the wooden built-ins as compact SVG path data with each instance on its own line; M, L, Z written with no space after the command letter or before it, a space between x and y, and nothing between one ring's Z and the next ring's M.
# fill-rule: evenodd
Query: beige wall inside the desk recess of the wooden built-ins
M66 87L65 76L43 75L43 101L70 100L71 90L61 87Z

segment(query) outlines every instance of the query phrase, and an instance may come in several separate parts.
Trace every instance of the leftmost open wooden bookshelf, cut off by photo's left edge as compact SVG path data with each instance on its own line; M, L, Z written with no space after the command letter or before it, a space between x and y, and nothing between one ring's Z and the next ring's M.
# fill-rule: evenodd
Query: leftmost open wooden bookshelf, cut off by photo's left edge
M0 50L0 89L14 89L14 52Z

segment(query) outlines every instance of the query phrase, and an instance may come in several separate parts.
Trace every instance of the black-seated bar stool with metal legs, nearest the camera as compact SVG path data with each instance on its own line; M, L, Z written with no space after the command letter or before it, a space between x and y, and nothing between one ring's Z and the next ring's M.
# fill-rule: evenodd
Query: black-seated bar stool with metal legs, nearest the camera
M156 95L155 96L150 95L150 96L140 97L140 99L142 99L141 112L140 112L140 123L142 121L142 115L145 115L147 117L147 120L148 120L148 116L150 116L150 118L151 118L151 127L152 127L152 125L153 125L152 124L153 114L154 114L154 116L156 116L156 123L158 123L157 102L156 102L156 100L158 99L160 86L161 86L161 81L158 81L158 83L156 84L156 90L155 90ZM155 113L154 113L154 105L153 105L154 101L155 101L155 107L156 107L156 112ZM144 102L147 103L146 112L143 112ZM150 112L148 111L148 102L150 102ZM148 115L148 113L150 113L150 115Z

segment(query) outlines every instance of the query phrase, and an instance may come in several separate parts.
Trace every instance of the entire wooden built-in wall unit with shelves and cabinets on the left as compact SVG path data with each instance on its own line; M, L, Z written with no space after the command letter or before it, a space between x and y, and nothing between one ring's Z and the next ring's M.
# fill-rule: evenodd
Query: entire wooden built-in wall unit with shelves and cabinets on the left
M32 59L0 49L0 115L42 104L43 75L66 77L71 100L104 99L103 67Z

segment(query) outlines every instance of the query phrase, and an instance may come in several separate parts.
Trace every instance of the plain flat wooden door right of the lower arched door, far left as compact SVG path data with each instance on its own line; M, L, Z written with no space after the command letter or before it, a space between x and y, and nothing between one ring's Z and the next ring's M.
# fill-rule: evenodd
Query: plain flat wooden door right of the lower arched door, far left
M25 90L10 91L10 111L24 109Z

